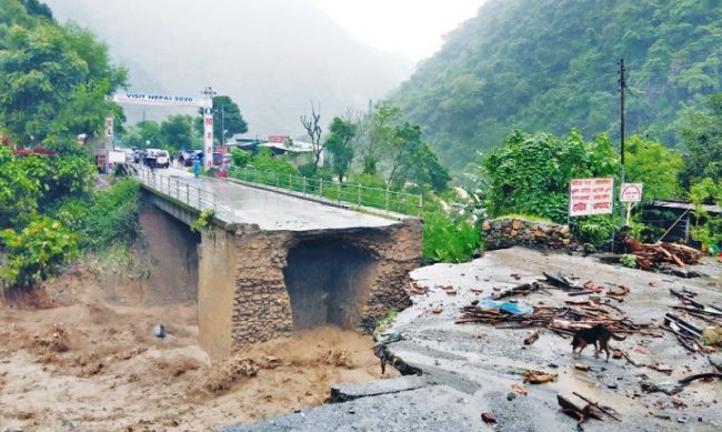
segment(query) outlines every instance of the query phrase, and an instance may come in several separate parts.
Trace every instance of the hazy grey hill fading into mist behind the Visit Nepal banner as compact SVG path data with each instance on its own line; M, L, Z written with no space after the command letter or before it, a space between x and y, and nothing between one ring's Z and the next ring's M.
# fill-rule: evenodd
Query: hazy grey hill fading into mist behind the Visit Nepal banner
M303 0L46 2L59 21L78 21L108 42L129 68L132 90L200 96L211 86L239 103L260 135L301 132L299 115L311 100L321 103L324 123L365 110L412 71L408 60L361 44ZM131 121L142 115L137 107L126 112ZM179 110L147 110L153 119L171 112Z

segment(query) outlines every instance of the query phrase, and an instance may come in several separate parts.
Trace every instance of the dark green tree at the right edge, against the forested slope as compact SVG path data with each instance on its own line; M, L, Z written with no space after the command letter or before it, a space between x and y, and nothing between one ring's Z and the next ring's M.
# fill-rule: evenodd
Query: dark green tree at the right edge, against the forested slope
M704 178L722 179L722 93L708 99L708 109L691 111L682 125L685 147L680 182L688 190Z

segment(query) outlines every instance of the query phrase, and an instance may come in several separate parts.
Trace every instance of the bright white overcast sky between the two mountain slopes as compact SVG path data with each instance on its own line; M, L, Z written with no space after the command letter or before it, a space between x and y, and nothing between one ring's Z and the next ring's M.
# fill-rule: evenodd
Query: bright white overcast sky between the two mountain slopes
M309 0L361 41L417 62L484 0Z

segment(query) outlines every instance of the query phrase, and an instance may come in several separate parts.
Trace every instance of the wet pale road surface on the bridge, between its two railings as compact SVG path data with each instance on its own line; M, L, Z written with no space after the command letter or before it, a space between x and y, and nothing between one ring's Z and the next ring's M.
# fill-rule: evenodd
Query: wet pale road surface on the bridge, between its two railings
M310 231L327 229L377 228L399 223L399 219L381 218L357 211L323 205L318 202L238 184L227 179L193 178L193 174L169 168L157 169L157 175L180 179L222 197L230 205L229 222L257 223L269 231ZM403 218L399 215L399 218Z

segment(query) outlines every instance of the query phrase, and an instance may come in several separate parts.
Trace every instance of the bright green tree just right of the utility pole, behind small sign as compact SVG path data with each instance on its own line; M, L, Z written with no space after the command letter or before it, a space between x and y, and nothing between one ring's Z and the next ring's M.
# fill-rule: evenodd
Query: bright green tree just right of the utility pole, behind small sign
M679 151L633 135L626 141L624 158L625 181L644 184L644 201L681 197L676 179L684 162Z

